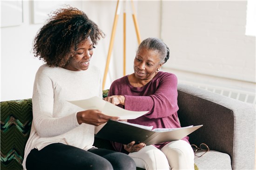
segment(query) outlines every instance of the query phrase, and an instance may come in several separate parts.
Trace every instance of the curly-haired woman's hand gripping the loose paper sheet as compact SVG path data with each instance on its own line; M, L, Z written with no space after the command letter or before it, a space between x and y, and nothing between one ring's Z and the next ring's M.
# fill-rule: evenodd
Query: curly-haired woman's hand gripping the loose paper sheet
M108 120L119 120L119 117L107 116L101 113L100 110L85 110L76 114L77 122L79 124L87 123L94 126L99 126L106 123Z

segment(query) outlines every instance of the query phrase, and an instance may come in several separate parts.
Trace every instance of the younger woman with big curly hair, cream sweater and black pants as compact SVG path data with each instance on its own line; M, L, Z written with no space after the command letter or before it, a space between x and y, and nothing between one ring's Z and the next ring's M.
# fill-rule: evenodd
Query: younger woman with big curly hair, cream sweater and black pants
M101 74L90 66L94 45L104 36L82 11L54 12L34 40L43 59L33 91L33 123L25 148L26 170L135 170L124 153L97 149L94 128L109 119L99 110L82 110L68 101L102 97Z

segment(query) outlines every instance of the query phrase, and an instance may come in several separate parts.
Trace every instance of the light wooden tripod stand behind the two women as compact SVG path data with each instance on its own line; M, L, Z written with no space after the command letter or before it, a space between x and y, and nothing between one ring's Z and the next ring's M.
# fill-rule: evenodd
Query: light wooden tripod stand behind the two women
M125 2L125 0L122 0L121 3L122 2ZM132 17L133 17L133 21L134 21L134 25L135 25L135 31L136 31L136 35L137 35L138 44L141 44L141 36L139 33L139 27L138 27L137 18L135 15L134 3L133 3L133 0L131 0L130 2L131 2L131 6L132 6L132 11L133 11ZM108 48L108 57L107 57L107 62L106 62L106 67L105 67L105 72L104 72L104 77L103 77L103 84L102 84L103 89L104 89L105 83L106 83L108 66L109 66L110 56L111 56L112 49L113 49L116 25L117 25L117 20L118 20L119 14L120 14L120 10L121 10L121 5L120 5L119 0L117 0L117 5L116 5L116 9L115 9L115 19L114 19L114 24L112 27L112 33L111 33L111 38L110 38L110 43L109 43L109 48ZM123 11L123 75L124 76L126 75L125 70L126 70L126 11L125 11L125 4L124 4L124 11Z

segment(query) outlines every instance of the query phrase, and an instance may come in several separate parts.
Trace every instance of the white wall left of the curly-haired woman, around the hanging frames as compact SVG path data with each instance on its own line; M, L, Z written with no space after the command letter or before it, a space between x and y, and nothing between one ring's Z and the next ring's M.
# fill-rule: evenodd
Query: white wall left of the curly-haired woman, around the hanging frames
M6 15L2 11L1 17ZM31 24L29 2L24 1L23 23L1 27L1 101L31 98L35 70L42 64L31 54L40 26Z

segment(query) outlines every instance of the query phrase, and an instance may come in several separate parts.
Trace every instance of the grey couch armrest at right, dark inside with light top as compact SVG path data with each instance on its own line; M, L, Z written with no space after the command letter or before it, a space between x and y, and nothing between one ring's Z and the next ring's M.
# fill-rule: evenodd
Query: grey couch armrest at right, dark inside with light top
M252 105L179 84L178 106L182 126L203 125L189 135L191 144L205 143L211 150L229 154L233 170L254 168L256 113Z

